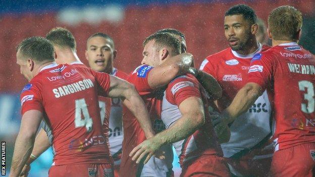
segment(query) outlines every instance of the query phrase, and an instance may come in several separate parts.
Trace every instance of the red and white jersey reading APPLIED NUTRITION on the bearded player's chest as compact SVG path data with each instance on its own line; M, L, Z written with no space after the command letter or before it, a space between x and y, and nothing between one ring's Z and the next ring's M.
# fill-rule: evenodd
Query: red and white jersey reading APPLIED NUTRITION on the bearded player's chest
M200 70L216 78L223 89L222 98L217 100L220 111L231 104L237 92L246 84L251 58L269 48L270 46L259 44L252 54L241 55L229 47L205 58ZM221 144L224 157L250 149L270 136L271 108L268 94L264 92L247 112L236 118L230 126L229 142Z

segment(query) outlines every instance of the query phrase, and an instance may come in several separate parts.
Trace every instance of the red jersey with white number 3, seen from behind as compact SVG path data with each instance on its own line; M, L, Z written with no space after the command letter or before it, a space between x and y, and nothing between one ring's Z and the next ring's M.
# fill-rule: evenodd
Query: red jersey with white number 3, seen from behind
M284 43L253 58L248 82L274 97L276 150L315 142L315 57L297 43Z

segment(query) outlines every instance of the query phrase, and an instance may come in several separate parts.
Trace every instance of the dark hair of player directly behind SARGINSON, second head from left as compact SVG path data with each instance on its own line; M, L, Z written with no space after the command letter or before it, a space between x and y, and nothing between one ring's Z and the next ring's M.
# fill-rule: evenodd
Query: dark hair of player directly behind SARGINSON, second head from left
M46 39L50 40L54 45L58 45L63 48L70 48L76 51L76 41L73 34L62 27L57 27L51 29L46 34Z

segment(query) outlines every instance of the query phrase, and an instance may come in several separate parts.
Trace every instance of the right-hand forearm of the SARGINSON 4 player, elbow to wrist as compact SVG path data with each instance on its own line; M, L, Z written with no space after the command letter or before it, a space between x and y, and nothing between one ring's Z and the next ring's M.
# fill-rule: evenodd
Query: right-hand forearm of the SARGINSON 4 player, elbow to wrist
M142 98L134 88L127 92L129 93L126 94L125 100L123 102L124 105L134 114L138 120L145 137L150 138L154 136L151 120Z

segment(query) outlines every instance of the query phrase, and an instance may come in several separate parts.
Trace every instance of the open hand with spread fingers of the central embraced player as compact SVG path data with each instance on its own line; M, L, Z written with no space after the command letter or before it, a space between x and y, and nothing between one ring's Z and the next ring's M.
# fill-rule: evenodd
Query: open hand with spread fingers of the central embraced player
M143 141L138 146L133 148L129 156L132 157L133 161L136 160L136 163L139 163L142 160L142 158L146 157L143 162L143 164L146 164L151 158L151 156L154 155L156 152L158 152L161 146L162 146L162 143L159 143L159 141L155 140L153 137L153 138ZM162 153L159 152L158 154L156 154L156 157L160 159L164 159L165 156L163 158L162 154L163 152Z

